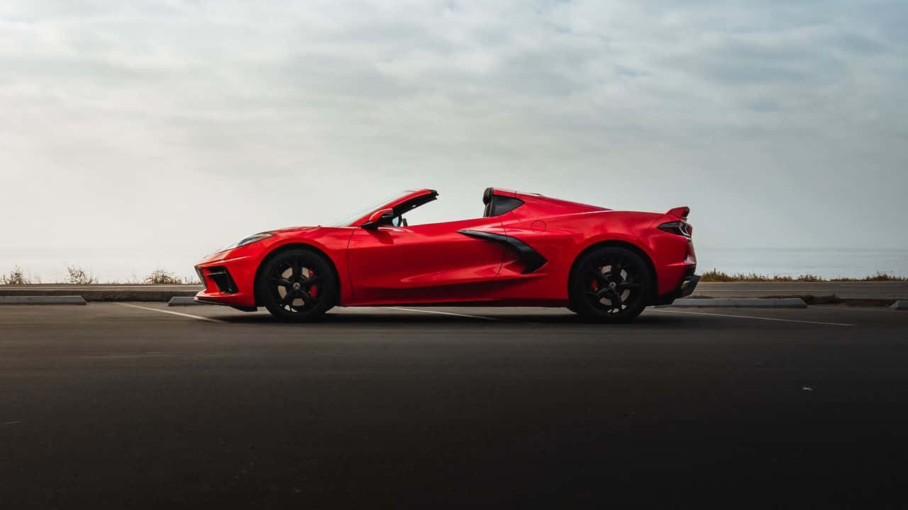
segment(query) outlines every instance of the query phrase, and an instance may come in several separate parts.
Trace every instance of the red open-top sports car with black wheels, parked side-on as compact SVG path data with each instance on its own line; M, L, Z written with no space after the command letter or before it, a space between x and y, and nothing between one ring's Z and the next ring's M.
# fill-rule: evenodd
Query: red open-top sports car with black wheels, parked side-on
M278 319L334 306L568 307L603 321L694 291L686 207L612 211L489 188L475 220L408 225L438 198L407 191L340 224L252 235L202 260L195 299Z

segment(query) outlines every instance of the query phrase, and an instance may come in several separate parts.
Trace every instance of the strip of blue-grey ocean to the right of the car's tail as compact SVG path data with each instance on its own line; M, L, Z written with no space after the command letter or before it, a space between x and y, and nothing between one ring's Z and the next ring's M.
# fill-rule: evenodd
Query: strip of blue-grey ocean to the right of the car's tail
M697 272L723 270L797 277L813 274L830 278L864 278L876 273L908 277L908 250L812 250L710 248L696 246Z

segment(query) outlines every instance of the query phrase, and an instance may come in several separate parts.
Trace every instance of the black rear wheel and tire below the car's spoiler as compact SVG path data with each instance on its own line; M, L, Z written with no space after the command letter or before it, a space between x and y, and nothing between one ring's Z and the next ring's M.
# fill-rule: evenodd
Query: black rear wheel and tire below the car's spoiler
M600 322L633 320L652 295L649 267L625 248L598 248L582 255L568 282L570 309L584 319Z

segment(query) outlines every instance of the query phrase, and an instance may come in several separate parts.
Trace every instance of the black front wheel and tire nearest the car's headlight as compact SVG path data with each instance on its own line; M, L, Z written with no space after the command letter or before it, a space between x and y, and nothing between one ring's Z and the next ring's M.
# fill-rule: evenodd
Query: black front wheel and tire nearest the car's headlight
M277 319L312 322L334 307L338 283L331 263L313 250L281 251L265 261L255 282L264 306Z

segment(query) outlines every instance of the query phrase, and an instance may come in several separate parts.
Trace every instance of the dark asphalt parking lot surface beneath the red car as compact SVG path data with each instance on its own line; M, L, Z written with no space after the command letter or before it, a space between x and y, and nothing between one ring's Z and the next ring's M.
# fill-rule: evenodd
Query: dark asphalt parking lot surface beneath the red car
M0 508L903 507L906 333L841 307L0 307Z

